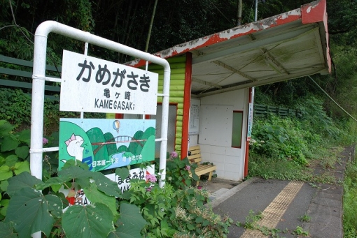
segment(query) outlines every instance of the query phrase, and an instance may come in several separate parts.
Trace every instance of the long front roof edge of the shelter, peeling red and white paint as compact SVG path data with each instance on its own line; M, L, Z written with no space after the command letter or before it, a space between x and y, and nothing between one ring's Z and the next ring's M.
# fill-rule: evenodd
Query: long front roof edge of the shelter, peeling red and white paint
M221 43L225 40L230 40L232 38L238 38L240 36L253 34L257 31L262 31L264 29L276 27L281 24L286 24L301 19L302 19L301 8L297 8L295 10L290 10L286 13L274 15L272 17L268 17L263 20L259 20L257 22L251 22L239 27L234 27L232 29L211 34L209 36L204 36L202 38L191 40L183 44L175 45L174 47L171 47L167 50L156 52L154 53L154 55L166 59L169 57L174 57L179 54L183 54L185 52L190 52L191 50L198 50L208 45ZM134 61L128 62L127 65L140 67L145 65L145 61L142 59L135 59Z

